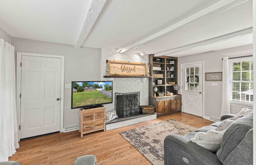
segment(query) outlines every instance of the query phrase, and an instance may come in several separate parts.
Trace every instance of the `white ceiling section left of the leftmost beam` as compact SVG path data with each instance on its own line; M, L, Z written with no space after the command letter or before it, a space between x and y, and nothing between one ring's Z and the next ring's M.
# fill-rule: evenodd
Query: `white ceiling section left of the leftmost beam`
M0 0L0 28L12 37L73 45L89 0Z

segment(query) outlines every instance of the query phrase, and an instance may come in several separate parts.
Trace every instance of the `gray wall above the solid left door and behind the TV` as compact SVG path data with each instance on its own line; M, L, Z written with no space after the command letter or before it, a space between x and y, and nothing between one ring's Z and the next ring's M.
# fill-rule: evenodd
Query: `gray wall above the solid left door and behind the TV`
M64 84L71 81L101 80L101 49L74 49L72 45L12 38L17 52L65 56ZM79 109L71 109L71 89L64 89L64 127L79 124Z

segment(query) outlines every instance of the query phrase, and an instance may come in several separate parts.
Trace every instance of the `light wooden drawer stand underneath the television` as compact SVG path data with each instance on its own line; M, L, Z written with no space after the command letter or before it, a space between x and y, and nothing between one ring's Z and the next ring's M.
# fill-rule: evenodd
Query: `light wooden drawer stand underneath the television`
M105 131L105 110L105 107L81 109L79 128L81 137L90 132Z

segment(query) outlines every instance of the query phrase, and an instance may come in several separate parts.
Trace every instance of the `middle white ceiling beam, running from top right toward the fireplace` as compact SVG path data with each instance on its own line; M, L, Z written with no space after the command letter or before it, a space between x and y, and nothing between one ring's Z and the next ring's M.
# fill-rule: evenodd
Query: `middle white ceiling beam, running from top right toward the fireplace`
M120 53L123 53L129 49L133 49L135 47L138 47L148 41L151 41L165 33L169 33L171 31L174 31L174 30L179 30L179 29L182 29L183 27L187 27L189 25L192 25L194 22L196 22L196 20L198 18L201 18L202 16L212 16L212 15L215 15L219 12L222 12L222 11L225 11L229 8L233 8L241 3L244 3L244 2L247 2L248 0L220 0L219 2L211 5L210 7L208 8L204 8L202 9L201 11L195 13L194 15L192 16L189 16L185 19L183 19L182 21L174 24L174 25L171 25L167 28L165 28L164 30L160 31L160 32L157 32L143 40L140 40L134 44L131 44L125 48L123 48Z

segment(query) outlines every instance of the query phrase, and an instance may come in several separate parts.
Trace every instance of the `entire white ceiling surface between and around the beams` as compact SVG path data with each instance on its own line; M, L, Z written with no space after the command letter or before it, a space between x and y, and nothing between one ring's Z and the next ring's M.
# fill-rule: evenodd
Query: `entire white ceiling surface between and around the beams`
M233 8L202 16L132 51L159 54L252 27L252 0L244 1ZM219 2L107 0L83 46L123 49ZM0 28L12 37L75 45L88 7L90 0L0 0ZM249 34L168 55L179 57L251 43Z

